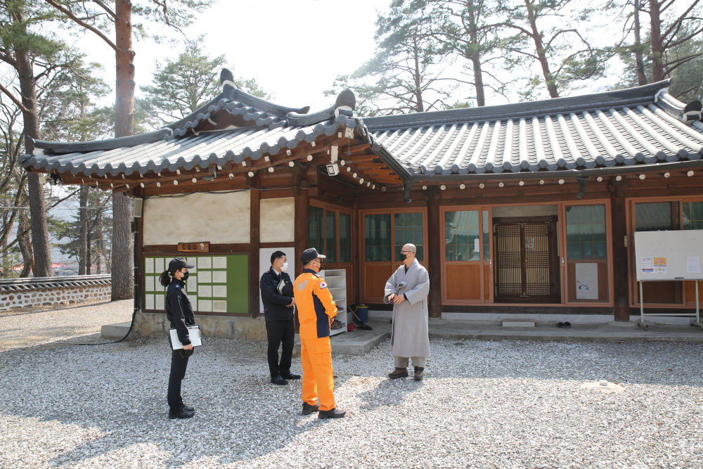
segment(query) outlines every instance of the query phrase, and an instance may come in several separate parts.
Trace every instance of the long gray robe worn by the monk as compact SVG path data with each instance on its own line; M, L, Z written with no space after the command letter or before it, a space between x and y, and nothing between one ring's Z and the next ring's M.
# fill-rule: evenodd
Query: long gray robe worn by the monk
M399 287L401 283L407 285ZM393 330L391 353L394 356L430 356L430 338L427 333L427 295L430 293L430 276L418 259L405 271L405 264L386 282L383 301L395 293L405 295L407 300L393 305ZM424 364L423 364L424 366Z

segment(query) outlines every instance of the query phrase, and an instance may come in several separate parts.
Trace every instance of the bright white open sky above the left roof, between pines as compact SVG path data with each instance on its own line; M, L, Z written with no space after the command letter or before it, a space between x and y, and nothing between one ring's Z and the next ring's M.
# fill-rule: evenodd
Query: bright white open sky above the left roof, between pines
M373 53L376 8L388 1L356 0L219 0L186 30L189 38L207 34L203 50L225 54L235 77L256 78L273 101L290 107L326 108L335 77L354 71ZM349 25L354 25L349 27ZM178 32L163 27L166 44L135 42L137 86L150 82L156 60L181 53ZM112 39L112 38L110 38ZM103 63L105 79L115 83L112 49L92 33L77 46ZM137 93L139 93L137 91ZM114 95L105 103L114 102Z

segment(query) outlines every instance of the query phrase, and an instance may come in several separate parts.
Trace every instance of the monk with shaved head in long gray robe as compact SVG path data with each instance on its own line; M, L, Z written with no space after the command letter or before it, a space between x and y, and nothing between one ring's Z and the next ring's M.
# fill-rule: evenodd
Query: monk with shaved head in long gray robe
M430 337L427 333L427 294L430 276L415 255L418 248L406 244L401 250L403 264L386 282L383 301L393 303L393 330L391 353L395 370L388 374L392 380L408 375L408 358L415 367L415 380L421 381L425 361L430 356Z

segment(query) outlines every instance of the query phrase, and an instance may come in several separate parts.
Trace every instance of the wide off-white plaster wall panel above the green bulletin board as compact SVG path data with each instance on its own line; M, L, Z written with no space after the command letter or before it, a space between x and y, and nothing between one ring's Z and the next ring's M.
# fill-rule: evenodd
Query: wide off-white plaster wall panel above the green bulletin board
M144 245L249 243L249 191L144 200Z

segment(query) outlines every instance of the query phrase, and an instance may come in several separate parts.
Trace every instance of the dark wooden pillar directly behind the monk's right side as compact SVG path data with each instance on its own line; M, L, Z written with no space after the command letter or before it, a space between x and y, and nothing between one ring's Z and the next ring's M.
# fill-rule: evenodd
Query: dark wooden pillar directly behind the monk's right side
M430 295L428 307L431 318L441 317L441 240L444 239L439 223L439 189L430 186L427 192L430 196L427 204L427 259L430 274Z

